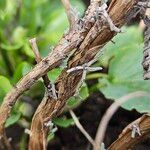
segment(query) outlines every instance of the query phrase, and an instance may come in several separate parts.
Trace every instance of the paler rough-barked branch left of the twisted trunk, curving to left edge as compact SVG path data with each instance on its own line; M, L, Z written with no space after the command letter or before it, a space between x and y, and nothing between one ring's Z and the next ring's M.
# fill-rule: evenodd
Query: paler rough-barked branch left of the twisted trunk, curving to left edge
M91 11L92 9L92 11ZM90 23L89 18L94 17L93 11L95 7L87 10L87 15L82 23L83 28L70 31L64 35L55 49L38 63L32 71L25 75L15 87L5 96L0 107L0 136L3 138L4 124L11 113L11 109L16 103L19 96L30 89L30 87L48 71L61 65L63 60L68 57L73 49L75 49L85 38L91 26L95 23ZM91 26L87 26L91 24Z

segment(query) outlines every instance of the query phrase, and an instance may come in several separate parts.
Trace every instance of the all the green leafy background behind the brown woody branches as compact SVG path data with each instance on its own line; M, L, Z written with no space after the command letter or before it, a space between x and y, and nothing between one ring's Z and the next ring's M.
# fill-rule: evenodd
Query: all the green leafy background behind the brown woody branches
M85 6L80 0L72 0L72 4L82 16ZM35 63L29 46L29 39L37 37L42 57L46 56L57 44L68 21L60 0L1 0L0 1L0 103L11 88L29 72ZM142 53L143 35L138 27L124 27L124 33L117 35L113 43L104 47L104 55L95 66L102 66L108 72L89 74L87 80L98 79L92 87L83 86L81 99L70 98L69 107L77 107L86 99L89 92L101 91L108 99L115 100L133 91L150 92L150 81L143 80ZM62 68L49 73L55 82ZM6 127L18 123L27 128L31 122L34 109L26 99L38 103L44 93L44 85L40 79L20 98ZM150 111L148 97L133 99L122 106L125 109L136 109L139 112ZM61 127L73 124L71 118L55 118L53 121ZM51 139L51 138L50 138Z

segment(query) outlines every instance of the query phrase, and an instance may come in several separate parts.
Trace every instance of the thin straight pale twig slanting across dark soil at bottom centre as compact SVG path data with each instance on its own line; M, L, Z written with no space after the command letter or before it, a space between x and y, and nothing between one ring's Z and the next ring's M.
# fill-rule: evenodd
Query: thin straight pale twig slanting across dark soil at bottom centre
M80 124L77 116L75 115L75 113L72 110L69 110L70 115L72 116L76 126L78 127L78 129L82 132L82 134L87 138L87 140L93 145L95 146L95 142L92 139L92 137L86 132L86 130L83 128L83 126Z

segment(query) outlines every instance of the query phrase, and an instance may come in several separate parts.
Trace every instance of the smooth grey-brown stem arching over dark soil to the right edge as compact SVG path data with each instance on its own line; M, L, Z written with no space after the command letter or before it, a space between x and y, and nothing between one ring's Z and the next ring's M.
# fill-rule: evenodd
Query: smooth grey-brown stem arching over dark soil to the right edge
M150 97L150 94L147 92L139 91L139 92L130 93L128 95L125 95L125 96L115 100L115 102L107 109L106 113L104 114L104 116L103 116L103 118L99 124L98 130L96 133L96 137L95 137L96 146L94 147L93 150L99 150L100 149L100 146L104 140L104 136L105 136L105 132L106 132L108 123L109 123L110 119L112 118L112 116L114 115L114 113L117 111L117 109L122 104L131 100L132 98L139 98L142 96L149 96ZM127 146L129 146L129 145L127 145ZM122 148L125 148L125 147L120 147L120 149L122 149Z

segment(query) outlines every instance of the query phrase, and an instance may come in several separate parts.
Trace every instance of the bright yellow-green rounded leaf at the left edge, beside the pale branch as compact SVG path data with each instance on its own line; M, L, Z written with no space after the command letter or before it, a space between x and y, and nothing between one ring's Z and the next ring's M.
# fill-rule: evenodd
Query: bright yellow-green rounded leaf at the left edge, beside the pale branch
M12 85L10 84L10 81L4 76L0 76L0 101L11 90L11 88Z

